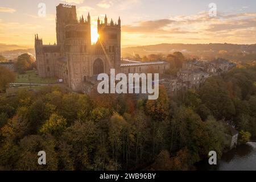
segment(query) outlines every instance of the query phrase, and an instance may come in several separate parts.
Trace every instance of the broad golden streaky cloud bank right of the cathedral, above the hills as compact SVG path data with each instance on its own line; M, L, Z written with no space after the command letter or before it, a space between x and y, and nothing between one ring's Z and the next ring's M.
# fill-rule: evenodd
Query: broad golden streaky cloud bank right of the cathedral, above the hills
M182 43L255 43L256 13L223 13L210 17L207 11L134 22L122 26L122 32L138 42ZM148 39L150 38L150 39ZM128 40L127 40L128 41Z

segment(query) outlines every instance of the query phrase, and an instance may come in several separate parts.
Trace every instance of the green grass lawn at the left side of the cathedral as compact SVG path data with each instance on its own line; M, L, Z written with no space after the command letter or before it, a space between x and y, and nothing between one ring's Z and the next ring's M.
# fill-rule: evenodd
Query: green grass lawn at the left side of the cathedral
M30 77L30 80L28 79ZM35 71L27 71L25 74L16 73L15 82L22 84L55 84L57 78L40 78Z

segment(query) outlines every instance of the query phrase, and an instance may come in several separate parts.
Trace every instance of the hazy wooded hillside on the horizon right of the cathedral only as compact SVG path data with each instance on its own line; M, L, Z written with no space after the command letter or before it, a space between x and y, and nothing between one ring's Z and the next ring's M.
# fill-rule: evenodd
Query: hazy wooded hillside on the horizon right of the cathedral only
M239 54L255 54L256 44L157 44L151 46L137 46L122 48L122 57L147 56L150 54L162 53L168 55L170 53L180 51L184 55L200 58L215 57L219 54L225 56L236 56ZM255 57L256 60L256 57Z

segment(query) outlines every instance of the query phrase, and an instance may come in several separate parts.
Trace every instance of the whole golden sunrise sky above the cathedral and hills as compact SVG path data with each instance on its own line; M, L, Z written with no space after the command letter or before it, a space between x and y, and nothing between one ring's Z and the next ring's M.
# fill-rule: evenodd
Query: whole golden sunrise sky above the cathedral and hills
M46 16L39 16L40 3L46 5ZM44 44L55 43L59 3L76 5L78 16L90 12L93 42L97 40L97 18L104 20L107 14L109 21L121 17L123 47L256 43L255 0L1 0L0 43L33 47L34 34Z

